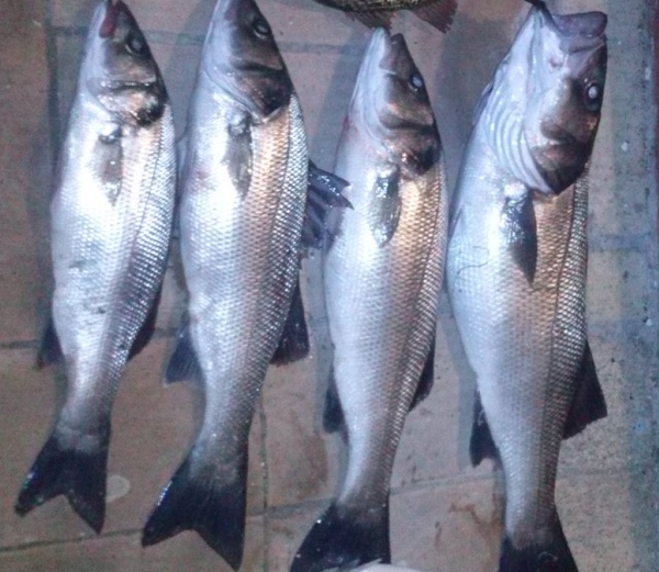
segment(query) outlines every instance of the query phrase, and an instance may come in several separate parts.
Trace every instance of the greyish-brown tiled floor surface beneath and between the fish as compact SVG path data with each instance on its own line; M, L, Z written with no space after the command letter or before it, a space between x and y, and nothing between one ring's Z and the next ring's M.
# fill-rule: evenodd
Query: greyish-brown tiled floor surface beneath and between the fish
M186 121L212 0L129 0ZM183 304L175 253L158 336L127 368L114 407L107 526L96 537L58 498L24 518L19 486L54 417L51 370L33 369L49 284L53 149L75 89L96 2L0 1L0 570L228 571L186 532L144 550L139 529L193 438L199 396L159 383ZM330 168L369 32L311 0L261 0L289 64L311 155ZM610 15L610 71L591 169L589 323L610 416L568 441L558 509L581 572L659 570L657 186L652 2L561 0ZM394 21L431 87L453 186L471 113L526 10L522 0L460 0L446 36L410 13ZM245 571L287 571L337 487L342 445L322 433L328 339L319 259L303 281L313 354L272 369L252 434ZM392 481L393 561L436 572L494 572L502 498L492 467L471 469L473 379L444 298L435 389L409 417Z

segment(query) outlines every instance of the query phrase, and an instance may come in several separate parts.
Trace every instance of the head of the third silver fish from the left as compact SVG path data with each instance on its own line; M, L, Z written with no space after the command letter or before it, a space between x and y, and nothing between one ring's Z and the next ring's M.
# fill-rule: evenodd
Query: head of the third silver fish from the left
M372 141L382 142L403 175L428 170L440 153L428 92L404 37L378 29L364 57L351 115Z

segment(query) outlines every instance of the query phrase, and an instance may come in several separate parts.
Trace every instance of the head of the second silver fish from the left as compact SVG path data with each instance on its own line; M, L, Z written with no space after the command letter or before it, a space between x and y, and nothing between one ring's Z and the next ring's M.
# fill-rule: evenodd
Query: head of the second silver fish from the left
M257 121L276 115L293 92L270 24L254 0L219 0L202 67L226 96Z

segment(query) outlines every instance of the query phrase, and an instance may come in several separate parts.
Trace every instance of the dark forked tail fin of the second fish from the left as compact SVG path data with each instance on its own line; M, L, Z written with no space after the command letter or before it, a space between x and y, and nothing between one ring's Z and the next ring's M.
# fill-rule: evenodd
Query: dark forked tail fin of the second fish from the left
M247 451L222 480L213 468L194 462L194 451L179 467L153 509L142 532L152 546L183 530L196 530L234 569L241 568L245 543Z

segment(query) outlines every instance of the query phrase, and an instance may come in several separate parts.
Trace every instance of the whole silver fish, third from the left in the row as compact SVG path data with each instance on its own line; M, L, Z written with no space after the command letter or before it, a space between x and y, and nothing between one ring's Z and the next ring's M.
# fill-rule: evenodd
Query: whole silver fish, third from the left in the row
M333 172L351 210L323 255L333 380L325 427L348 445L336 498L292 572L390 561L389 490L414 396L432 383L448 202L442 143L423 76L401 34L368 45Z

